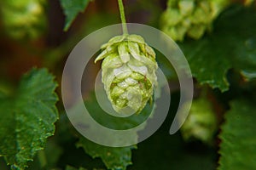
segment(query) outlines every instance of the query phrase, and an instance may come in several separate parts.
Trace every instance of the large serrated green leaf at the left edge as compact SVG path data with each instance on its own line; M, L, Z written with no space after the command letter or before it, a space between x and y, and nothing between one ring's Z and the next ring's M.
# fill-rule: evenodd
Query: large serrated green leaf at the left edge
M56 83L45 69L33 69L14 97L0 99L0 156L13 169L24 169L55 132Z

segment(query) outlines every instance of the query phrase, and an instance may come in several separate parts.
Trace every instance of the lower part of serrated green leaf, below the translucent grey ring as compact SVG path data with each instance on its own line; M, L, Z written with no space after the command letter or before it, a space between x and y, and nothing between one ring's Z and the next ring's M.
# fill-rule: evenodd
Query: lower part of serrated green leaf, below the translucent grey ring
M91 142L84 137L79 138L77 144L82 147L86 153L93 158L100 157L108 169L126 169L131 165L131 150L136 149L136 146L113 148Z

